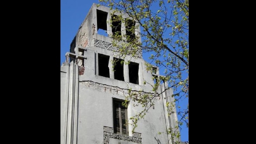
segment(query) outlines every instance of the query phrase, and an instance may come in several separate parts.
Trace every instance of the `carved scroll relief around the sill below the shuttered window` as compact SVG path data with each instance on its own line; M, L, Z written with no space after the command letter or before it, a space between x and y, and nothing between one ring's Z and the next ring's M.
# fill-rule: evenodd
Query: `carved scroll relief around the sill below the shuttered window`
M126 136L121 134L114 133L114 129L111 127L104 126L103 128L104 132L104 144L109 144L109 138L117 139L117 140L126 140L126 141L132 141L137 144L142 144L142 138L141 133L134 132L133 136Z

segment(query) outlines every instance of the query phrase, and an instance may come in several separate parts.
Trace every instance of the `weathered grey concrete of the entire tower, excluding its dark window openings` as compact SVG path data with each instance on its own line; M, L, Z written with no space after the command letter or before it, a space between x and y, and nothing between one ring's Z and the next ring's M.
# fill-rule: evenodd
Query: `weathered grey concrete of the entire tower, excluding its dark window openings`
M109 12L107 7L100 6L97 8L95 4L92 5L71 44L70 52L74 54L73 58L70 58L70 66L66 64L61 67L61 144L103 144L106 140L103 127L114 127L113 98L124 100L128 88L132 88L132 91L151 93L151 85L154 85L152 74L146 70L146 61L141 59L139 55L137 58L127 56L124 59L126 62L129 60L139 64L139 84L129 82L128 65L124 65L124 81L114 79L111 60L116 57L117 53L111 47L109 37L97 34L96 9ZM127 17L126 14L123 14L123 16ZM93 29L94 27L95 29ZM110 30L111 27L108 25L107 29ZM108 31L108 34L110 34L110 31ZM101 42L96 44L95 39ZM109 78L99 76L99 53L109 56ZM82 68L83 61L84 66ZM159 76L159 71L156 75ZM144 80L149 84L143 84ZM165 89L166 85L160 85L159 93L162 93ZM165 107L166 102L173 101L172 94L172 89L163 92L160 97L155 99L154 109L150 109L145 118L139 121L135 132L141 133L143 144L172 143L169 141L170 135L158 135L158 132L165 132L169 126L174 128L176 125L177 115L172 114L171 117L168 117ZM143 110L140 106L133 107L133 104L135 103L131 101L127 108L128 118ZM130 137L133 136L132 128L132 125L129 125ZM122 135L119 137L122 137ZM105 141L105 144L118 144L119 142L121 144L134 143L109 138L109 141Z

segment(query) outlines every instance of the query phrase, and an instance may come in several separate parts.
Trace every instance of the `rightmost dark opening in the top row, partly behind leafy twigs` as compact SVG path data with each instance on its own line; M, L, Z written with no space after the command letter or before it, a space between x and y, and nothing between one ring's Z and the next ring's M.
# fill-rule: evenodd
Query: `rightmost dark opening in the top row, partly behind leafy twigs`
M135 21L125 19L125 31L127 42L134 40L135 38Z

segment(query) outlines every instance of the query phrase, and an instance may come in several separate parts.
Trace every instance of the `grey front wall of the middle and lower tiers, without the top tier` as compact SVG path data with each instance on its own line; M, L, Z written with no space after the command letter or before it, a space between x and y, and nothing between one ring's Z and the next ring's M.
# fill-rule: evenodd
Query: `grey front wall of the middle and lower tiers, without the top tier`
M98 76L98 53L109 55L110 59L113 59L115 53L99 47L87 47L84 65L84 75L79 76L79 104L78 104L78 144L82 143L103 143L103 126L114 127L113 125L113 98L125 99L128 88L132 87L132 90L143 90L144 92L152 92L152 87L149 84L143 84L143 79L150 84L154 84L152 75L145 68L143 59L131 58L127 56L126 61L129 59L133 62L139 63L139 84L129 83L128 66L124 65L124 77L125 81L119 81L114 79L113 74L110 78ZM110 73L111 63L109 64ZM158 73L159 74L159 73ZM112 77L111 77L112 76ZM163 87L164 89L164 87ZM159 92L161 92L159 87ZM151 109L146 115L145 119L140 120L135 132L142 134L142 143L168 143L170 139L166 134L158 135L158 132L165 132L167 126L172 124L166 124L168 117L166 116L166 104L167 96L172 95L172 90L168 91L164 98L156 100L154 109ZM170 97L169 97L170 98ZM171 101L171 99L169 100ZM128 106L128 118L134 116L136 113L142 110L141 107L133 107L133 102ZM172 118L174 118L172 116ZM170 123L173 123L172 122ZM174 124L173 124L174 125ZM132 126L129 125L129 136L132 136ZM112 140L113 141L113 140ZM127 143L127 142L126 142ZM132 144L132 143L131 143Z

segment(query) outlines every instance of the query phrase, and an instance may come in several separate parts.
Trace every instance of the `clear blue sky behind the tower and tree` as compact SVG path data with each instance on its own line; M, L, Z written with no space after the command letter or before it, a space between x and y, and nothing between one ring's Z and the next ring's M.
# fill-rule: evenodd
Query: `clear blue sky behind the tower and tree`
M82 24L93 3L98 0L60 0L60 66L65 61L79 26ZM148 60L149 54L143 53L143 59ZM160 71L160 75L164 75ZM188 99L181 102L181 107L188 104ZM179 117L179 116L178 116ZM188 141L188 128L182 126L181 141Z

